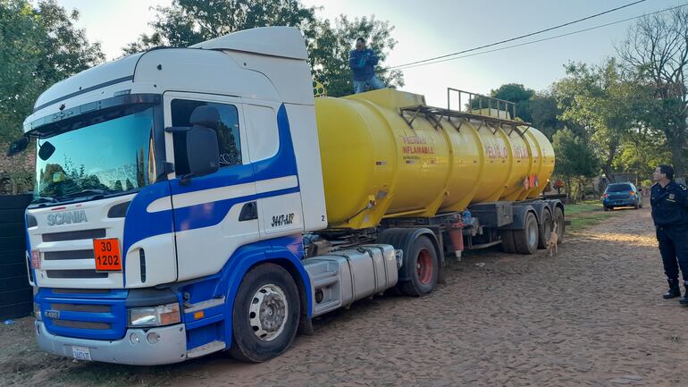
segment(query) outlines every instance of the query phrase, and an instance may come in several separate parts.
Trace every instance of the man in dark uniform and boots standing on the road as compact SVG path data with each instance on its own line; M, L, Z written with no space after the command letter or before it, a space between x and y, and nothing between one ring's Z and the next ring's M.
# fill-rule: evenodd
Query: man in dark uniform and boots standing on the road
M650 196L652 220L657 229L664 273L669 282L669 290L664 298L681 297L678 286L680 267L686 293L679 302L688 306L688 189L674 181L674 168L671 165L659 165L652 173L652 179L657 181L652 186Z

